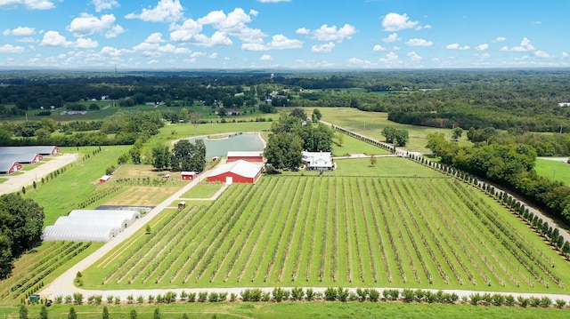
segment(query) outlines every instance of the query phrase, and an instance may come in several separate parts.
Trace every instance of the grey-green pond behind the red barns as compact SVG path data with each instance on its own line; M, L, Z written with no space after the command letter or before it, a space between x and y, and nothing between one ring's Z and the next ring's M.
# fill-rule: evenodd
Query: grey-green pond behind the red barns
M218 137L220 137L218 139ZM206 137L188 139L193 144L196 140L204 140L206 144L206 158L214 156L227 156L228 151L263 151L264 141L258 133L232 133L225 136L216 136L214 139Z

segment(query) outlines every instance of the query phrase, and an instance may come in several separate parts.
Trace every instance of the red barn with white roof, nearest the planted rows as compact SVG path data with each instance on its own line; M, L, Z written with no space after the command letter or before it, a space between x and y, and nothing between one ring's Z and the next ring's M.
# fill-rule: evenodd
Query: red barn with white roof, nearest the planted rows
M208 181L220 181L226 184L232 183L255 183L263 166L238 160L232 163L224 163L208 175Z

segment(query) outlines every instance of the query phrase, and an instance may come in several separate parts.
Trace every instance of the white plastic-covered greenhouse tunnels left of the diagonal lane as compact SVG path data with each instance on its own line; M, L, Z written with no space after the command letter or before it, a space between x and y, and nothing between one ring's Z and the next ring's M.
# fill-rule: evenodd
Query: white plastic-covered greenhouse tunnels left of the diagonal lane
M76 210L45 227L45 241L108 242L141 217L138 211Z

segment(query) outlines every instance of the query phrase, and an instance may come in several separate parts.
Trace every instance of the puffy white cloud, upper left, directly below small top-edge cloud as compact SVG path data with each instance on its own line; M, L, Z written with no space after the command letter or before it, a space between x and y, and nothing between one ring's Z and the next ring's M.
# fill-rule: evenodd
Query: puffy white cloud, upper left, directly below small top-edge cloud
M73 36L91 36L95 33L103 33L110 31L108 37L116 36L124 31L120 26L114 26L115 16L113 14L103 14L101 18L97 18L89 13L81 13L78 18L71 21L67 29L73 33Z

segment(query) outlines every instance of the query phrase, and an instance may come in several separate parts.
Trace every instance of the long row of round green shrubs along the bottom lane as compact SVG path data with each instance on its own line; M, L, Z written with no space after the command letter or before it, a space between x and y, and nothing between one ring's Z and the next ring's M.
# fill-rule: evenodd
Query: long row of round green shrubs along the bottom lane
M126 298L126 304L143 304L145 301L152 304L169 304L177 301L181 302L222 302L230 301L235 302L242 300L245 302L282 302L282 301L297 301L297 300L324 300L324 301L403 301L403 302L426 302L426 303L441 303L441 304L471 304L473 306L519 306L519 307L566 307L566 300L556 299L554 302L549 297L543 296L525 298L518 296L515 298L513 295L506 295L502 293L473 293L469 296L462 296L461 298L457 293L444 292L444 291L429 291L429 290L413 290L413 289L386 289L379 291L374 288L357 288L350 291L347 288L333 288L329 287L324 291L314 291L313 288L292 288L287 290L284 288L273 288L273 291L264 291L260 288L245 289L237 293L216 292L216 291L199 291L199 292L186 292L182 291L180 296L174 291L168 291L165 294L149 295L146 298L142 295L134 297L129 295ZM46 300L42 300L45 303ZM84 303L84 297L81 293L74 293L73 296L58 296L54 300L56 304L71 304L81 305ZM101 305L103 302L102 295L90 296L86 299L88 304ZM122 300L119 296L109 295L106 297L108 304L121 304Z

